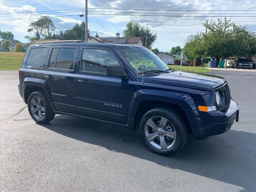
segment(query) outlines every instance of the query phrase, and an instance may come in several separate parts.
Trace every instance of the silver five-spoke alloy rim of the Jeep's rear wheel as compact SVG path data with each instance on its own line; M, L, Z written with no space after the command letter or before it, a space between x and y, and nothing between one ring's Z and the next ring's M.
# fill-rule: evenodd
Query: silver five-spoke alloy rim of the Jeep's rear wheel
M41 120L45 116L45 103L44 101L38 97L34 96L30 101L30 111L33 114L33 116Z

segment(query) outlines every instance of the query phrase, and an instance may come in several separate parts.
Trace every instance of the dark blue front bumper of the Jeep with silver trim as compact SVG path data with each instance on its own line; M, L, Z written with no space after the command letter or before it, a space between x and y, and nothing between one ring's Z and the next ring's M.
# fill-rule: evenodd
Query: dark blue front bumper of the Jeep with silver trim
M192 133L196 139L205 139L212 135L222 134L230 130L234 120L238 122L240 106L231 100L230 107L226 113L220 111L202 112L200 119L210 122L203 128L192 128Z

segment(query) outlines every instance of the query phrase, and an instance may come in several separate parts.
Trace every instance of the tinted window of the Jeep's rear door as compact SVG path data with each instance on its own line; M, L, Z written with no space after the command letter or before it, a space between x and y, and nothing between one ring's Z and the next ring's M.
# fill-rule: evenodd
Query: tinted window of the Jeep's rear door
M49 68L73 70L76 48L53 48Z

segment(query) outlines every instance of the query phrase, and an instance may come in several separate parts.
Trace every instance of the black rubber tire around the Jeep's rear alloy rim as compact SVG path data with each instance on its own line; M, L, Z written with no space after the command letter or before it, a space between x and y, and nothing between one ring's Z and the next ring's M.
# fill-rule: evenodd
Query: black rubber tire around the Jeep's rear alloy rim
M40 109L39 110L37 110L37 108L35 107L36 105L34 104L34 101L36 100L36 98L37 98L37 101L38 101L38 98L40 98L40 101L39 101ZM32 99L33 99L33 102L32 102ZM45 111L42 110L43 108ZM36 112L33 113L32 110L36 111ZM50 122L51 120L53 120L53 118L55 116L43 91L36 91L36 92L32 92L30 94L30 96L28 97L28 112L29 112L31 118L35 122L40 123L40 124L45 124L45 123ZM39 112L40 112L41 116L43 115L42 118L40 118Z

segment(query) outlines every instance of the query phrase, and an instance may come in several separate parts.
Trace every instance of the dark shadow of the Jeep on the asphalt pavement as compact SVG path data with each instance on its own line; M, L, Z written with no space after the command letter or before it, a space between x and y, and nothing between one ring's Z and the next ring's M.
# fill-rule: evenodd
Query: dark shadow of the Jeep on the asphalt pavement
M165 157L148 150L138 131L119 126L64 115L56 116L42 126L114 152L240 186L244 191L253 191L256 187L256 134L253 133L230 130L206 140L195 140L190 135L178 154Z

